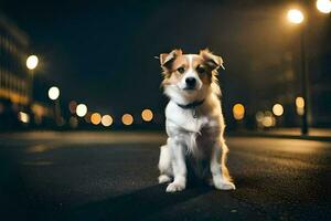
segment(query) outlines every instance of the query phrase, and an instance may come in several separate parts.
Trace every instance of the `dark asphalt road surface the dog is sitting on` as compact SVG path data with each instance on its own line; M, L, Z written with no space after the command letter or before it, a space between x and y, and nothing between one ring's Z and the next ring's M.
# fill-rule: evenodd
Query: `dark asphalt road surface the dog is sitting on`
M330 220L331 143L229 137L237 189L158 185L160 134L0 135L0 220Z

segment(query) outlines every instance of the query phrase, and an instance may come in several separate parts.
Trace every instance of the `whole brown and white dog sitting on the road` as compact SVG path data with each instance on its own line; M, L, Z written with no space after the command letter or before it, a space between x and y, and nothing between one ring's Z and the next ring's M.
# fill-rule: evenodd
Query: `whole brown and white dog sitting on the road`
M195 177L218 190L234 190L226 167L228 148L223 137L224 117L217 70L221 56L207 49L199 54L173 50L159 56L164 94L167 144L160 148L159 183L170 182L167 192L186 187L188 166ZM189 171L190 172L190 171Z

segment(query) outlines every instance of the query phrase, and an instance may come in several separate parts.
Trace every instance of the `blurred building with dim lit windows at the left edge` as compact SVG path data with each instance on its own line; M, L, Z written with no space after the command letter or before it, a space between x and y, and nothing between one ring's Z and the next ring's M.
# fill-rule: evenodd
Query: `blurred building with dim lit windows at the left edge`
M42 118L50 114L47 106L31 97L28 51L28 35L0 13L0 129L42 124Z

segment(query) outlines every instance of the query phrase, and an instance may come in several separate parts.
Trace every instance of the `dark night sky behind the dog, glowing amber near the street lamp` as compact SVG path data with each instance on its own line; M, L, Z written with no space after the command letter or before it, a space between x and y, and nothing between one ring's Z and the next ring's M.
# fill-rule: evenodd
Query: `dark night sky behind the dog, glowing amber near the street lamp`
M119 114L166 105L153 56L174 48L188 53L209 48L223 56L227 110L268 87L275 77L268 70L296 42L296 30L284 21L288 1L239 2L2 0L0 8L29 34L41 62L36 74L58 85L64 101ZM312 60L325 53L321 27L311 36L318 42ZM323 61L313 63L317 74L324 72Z

